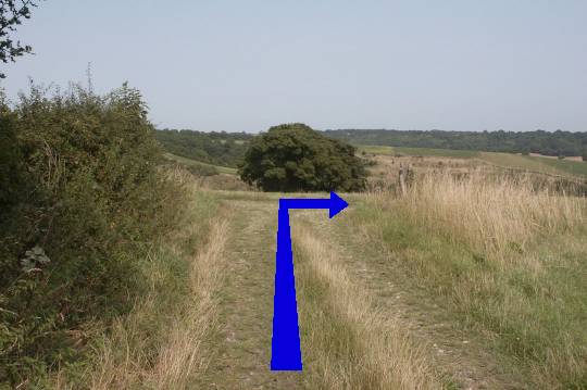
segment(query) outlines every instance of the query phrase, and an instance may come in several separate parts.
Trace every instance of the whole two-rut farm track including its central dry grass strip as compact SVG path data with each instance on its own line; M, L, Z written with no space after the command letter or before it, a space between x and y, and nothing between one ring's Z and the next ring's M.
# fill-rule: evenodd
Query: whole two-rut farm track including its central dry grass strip
M392 253L348 225L352 207L335 219L321 212L292 215L304 370L272 373L277 201L216 196L225 198L229 215L226 274L221 331L210 342L213 357L200 388L526 388L487 348L487 335L463 331L450 311L394 266Z

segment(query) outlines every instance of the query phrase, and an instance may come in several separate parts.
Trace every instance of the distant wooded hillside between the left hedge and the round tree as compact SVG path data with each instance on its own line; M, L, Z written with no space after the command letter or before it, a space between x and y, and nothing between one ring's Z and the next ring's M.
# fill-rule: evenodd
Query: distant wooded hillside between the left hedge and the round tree
M247 142L253 137L246 133L203 133L192 130L157 130L155 138L175 155L213 165L236 167L245 155Z

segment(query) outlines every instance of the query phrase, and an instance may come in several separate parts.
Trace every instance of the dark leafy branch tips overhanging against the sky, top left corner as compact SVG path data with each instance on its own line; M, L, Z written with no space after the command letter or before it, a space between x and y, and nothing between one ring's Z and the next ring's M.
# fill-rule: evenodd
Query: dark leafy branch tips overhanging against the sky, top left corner
M30 18L34 7L37 7L34 0L0 0L0 61L3 63L14 62L17 56L33 50L28 45L22 46L20 41L12 40L11 33L16 30L23 20ZM0 73L0 78L4 77Z

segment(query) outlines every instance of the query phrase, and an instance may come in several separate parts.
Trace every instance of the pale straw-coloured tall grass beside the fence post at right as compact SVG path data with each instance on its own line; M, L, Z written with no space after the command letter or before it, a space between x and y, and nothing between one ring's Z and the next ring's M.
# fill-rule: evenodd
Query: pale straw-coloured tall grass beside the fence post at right
M537 190L529 177L489 178L478 171L461 178L424 175L400 204L419 223L501 260L540 235L583 227L587 221L584 198Z

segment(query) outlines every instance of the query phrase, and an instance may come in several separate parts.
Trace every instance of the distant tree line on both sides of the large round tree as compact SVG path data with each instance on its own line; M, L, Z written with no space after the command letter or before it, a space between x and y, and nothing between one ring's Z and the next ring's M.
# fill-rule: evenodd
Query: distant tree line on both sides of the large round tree
M587 133L536 131L444 131L336 129L322 135L353 144L407 148L477 150L545 155L580 155L587 161ZM237 167L255 135L247 133L164 129L155 138L170 153L215 165Z

